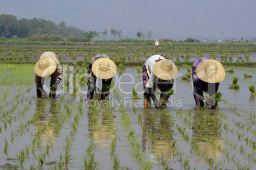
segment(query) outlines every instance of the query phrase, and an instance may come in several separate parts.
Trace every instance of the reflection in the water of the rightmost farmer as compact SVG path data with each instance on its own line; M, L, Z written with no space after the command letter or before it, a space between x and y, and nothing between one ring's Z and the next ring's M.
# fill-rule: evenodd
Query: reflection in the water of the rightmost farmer
M199 152L205 152L207 157L222 157L221 152L213 148L211 140L217 147L222 148L219 131L221 130L221 121L216 110L198 111L194 114L194 125L192 127L193 140L196 141ZM214 145L213 143L213 145Z

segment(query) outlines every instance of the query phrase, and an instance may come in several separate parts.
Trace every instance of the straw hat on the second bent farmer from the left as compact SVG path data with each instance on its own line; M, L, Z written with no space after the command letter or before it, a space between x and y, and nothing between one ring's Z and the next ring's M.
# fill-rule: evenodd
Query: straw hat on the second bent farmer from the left
M99 58L92 64L92 72L100 79L110 79L117 74L117 66L109 58Z

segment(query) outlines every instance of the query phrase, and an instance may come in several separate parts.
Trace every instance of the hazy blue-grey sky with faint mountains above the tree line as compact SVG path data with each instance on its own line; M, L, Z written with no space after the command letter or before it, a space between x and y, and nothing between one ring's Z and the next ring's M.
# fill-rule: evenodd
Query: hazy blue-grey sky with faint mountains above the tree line
M110 29L122 38L252 39L256 0L0 0L0 14L42 18L89 32ZM99 37L100 38L100 37Z

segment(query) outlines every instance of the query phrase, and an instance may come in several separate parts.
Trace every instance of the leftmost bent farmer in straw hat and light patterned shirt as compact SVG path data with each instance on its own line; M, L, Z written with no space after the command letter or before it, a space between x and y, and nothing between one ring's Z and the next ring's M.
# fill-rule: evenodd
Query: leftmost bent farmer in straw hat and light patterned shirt
M63 77L62 67L58 56L51 51L43 53L34 66L34 73L36 74L34 78L34 83L36 84L36 95L38 97L46 98L43 84L45 84L45 77L50 75L51 81L49 96L55 98L57 86Z

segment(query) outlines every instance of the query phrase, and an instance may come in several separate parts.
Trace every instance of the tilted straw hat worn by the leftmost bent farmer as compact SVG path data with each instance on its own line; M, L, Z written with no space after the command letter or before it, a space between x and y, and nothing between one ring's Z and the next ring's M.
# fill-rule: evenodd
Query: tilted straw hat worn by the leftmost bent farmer
M44 57L36 62L34 66L34 73L39 77L46 77L48 75L52 75L56 70L56 62L53 58Z

